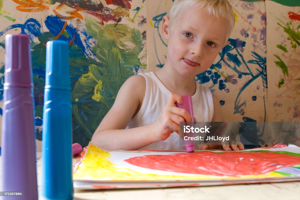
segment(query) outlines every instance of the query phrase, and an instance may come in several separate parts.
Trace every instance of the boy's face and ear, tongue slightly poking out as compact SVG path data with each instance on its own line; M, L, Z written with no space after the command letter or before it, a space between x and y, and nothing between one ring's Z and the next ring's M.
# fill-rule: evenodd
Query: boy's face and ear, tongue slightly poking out
M165 64L183 76L194 77L207 70L228 43L228 22L208 15L205 8L188 7L179 15L172 27L164 16L162 34L168 39Z

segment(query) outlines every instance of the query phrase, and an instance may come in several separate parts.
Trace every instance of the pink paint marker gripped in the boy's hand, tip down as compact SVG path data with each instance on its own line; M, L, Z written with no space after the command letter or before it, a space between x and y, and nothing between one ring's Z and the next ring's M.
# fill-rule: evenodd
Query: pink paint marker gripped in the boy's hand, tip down
M192 117L192 122L194 121L194 112L193 112L193 102L192 102L192 96L189 94L183 94L181 95L182 97L182 104L179 104L176 102L176 106L179 108L186 109L187 112L190 114ZM194 123L193 123L194 125ZM195 134L190 132L190 133L185 133L184 136L188 137L194 137ZM187 150L187 152L192 153L195 151L195 141L194 140L183 140L184 146Z

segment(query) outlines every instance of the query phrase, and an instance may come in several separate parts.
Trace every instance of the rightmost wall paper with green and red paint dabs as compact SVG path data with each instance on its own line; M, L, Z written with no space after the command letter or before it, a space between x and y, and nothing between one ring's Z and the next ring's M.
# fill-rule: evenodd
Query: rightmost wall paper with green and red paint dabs
M300 7L266 7L269 121L299 121Z

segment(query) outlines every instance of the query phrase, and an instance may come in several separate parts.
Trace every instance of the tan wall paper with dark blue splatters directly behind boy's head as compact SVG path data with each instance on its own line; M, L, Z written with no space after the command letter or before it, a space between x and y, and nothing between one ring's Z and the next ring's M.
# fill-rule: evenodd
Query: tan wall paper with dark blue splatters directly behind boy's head
M161 36L162 18L172 1L147 4L147 70L163 67L167 41ZM266 13L264 2L230 0L235 12L235 28L229 44L214 64L196 76L220 100L227 121L267 121Z

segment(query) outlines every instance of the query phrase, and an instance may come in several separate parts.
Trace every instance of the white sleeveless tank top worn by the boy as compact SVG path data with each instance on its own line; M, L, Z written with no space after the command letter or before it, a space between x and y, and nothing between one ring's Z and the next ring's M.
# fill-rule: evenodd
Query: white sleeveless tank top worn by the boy
M154 123L167 104L171 93L157 78L155 73L140 73L146 79L146 92L139 112L129 121L128 128L135 128ZM197 121L210 122L214 114L214 105L209 88L196 83L196 93L192 96L193 113ZM185 150L179 145L179 135L173 132L164 141L154 142L139 150Z

